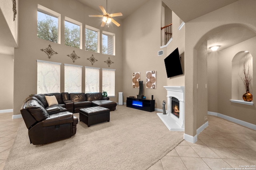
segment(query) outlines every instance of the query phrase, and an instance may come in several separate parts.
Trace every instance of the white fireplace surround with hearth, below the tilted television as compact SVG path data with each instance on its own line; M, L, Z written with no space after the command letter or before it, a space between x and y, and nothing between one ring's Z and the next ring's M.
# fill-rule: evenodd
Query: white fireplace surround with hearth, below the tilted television
M184 86L164 86L167 90L167 112L157 113L170 131L184 131L185 126L185 87ZM177 106L174 106L177 105ZM174 111L176 110L176 111ZM176 113L172 113L176 112ZM178 113L177 113L178 112Z

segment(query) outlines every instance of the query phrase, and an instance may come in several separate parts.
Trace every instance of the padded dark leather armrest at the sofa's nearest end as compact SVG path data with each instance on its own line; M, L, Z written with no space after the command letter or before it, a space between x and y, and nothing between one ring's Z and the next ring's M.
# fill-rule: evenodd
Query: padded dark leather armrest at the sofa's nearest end
M72 123L74 121L73 119L73 113L70 113L69 111L64 111L56 114L50 115L49 118L44 119L42 121L43 127L48 126L54 126L54 125L62 125L66 123Z

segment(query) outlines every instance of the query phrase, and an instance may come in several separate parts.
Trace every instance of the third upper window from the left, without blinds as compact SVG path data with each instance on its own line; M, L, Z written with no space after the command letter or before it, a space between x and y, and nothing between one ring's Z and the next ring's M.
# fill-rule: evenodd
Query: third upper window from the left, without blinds
M85 25L85 50L99 53L100 30Z

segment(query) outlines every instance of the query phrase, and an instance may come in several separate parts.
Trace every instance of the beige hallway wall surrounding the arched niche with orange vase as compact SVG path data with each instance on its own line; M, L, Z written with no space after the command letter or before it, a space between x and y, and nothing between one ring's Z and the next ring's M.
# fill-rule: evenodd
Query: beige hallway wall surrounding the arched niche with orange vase
M246 121L256 125L256 105L253 106L232 103L229 100L242 100L242 93L238 98L232 98L232 60L240 51L249 51L254 58L253 60L253 76L256 75L256 37L248 39L242 43L224 49L218 53L218 113L234 117L236 119ZM240 79L239 75L236 76ZM255 79L255 78L254 78ZM225 82L225 83L224 83ZM253 80L251 89L252 95L255 96L256 81ZM244 92L245 93L245 89ZM254 101L255 102L255 101Z

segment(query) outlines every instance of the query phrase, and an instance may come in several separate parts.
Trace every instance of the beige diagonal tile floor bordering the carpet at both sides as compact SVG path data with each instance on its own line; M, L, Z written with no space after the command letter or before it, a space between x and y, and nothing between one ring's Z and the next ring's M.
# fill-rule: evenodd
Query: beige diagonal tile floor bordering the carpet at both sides
M21 121L12 119L12 113L0 113L0 170ZM256 165L255 130L211 115L208 121L196 143L182 141L148 170L223 170Z

